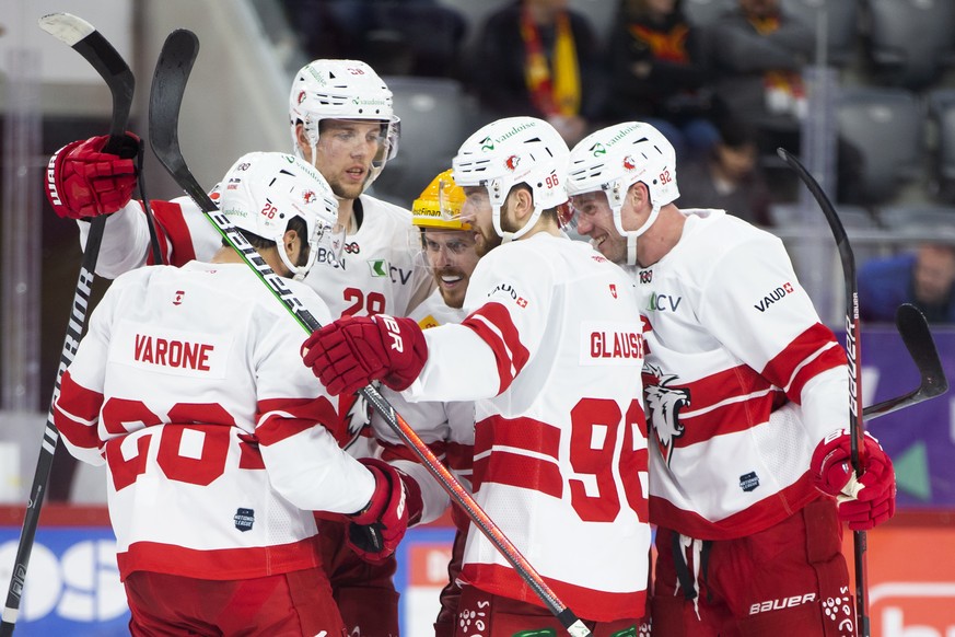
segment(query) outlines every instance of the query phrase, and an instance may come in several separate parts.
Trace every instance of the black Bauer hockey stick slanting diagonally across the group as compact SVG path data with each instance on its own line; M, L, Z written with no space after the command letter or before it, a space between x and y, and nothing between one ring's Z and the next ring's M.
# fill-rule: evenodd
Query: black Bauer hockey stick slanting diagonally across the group
M272 294L286 305L286 309L307 332L321 327L315 317L302 305L286 285L284 279L276 275L248 243L243 234L222 215L216 204L207 195L196 178L189 172L186 161L179 150L178 120L186 82L193 69L193 63L199 50L199 40L187 30L174 31L166 38L156 62L152 90L149 102L149 138L153 152L160 163L168 171L176 183L199 206L203 215L216 227L225 241L255 270L259 279L271 290ZM550 590L540 575L521 555L517 547L503 534L500 528L474 500L471 495L434 456L431 450L418 438L414 429L395 412L394 407L375 390L368 385L360 390L361 395L384 416L388 426L397 433L405 444L415 452L424 466L441 484L451 498L468 514L477 528L511 563L514 570L540 598L547 609L560 621L573 637L592 635L590 629L568 609Z

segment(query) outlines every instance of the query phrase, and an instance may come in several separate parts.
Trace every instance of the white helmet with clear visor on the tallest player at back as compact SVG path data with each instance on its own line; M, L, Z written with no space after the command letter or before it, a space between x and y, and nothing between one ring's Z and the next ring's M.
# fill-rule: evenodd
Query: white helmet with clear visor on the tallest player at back
M318 143L318 124L323 119L372 120L382 124L382 151L372 165L368 188L398 152L400 123L392 106L392 91L378 74L360 60L313 60L302 67L292 81L289 95L292 152L304 157L299 147L295 125L301 121L312 148Z

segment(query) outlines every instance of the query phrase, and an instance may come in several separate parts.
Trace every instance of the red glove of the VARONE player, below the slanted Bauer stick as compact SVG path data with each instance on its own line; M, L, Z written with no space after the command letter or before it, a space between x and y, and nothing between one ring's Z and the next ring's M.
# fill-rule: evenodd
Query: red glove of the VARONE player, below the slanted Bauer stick
M382 460L362 458L359 462L375 476L375 491L368 507L349 516L346 543L362 559L377 564L397 548L409 516L421 517L421 490L415 480Z

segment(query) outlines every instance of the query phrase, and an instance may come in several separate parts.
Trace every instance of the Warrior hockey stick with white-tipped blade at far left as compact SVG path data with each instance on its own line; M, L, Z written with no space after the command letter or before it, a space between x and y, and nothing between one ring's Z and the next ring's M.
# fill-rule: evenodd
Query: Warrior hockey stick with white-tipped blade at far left
M106 85L109 86L109 92L113 95L113 118L109 124L109 139L103 152L116 153L121 148L126 124L129 120L129 109L132 106L132 91L136 85L132 71L129 70L126 61L116 53L113 45L92 24L81 18L69 13L53 13L40 18L39 26L57 39L70 45L77 53L86 58L86 61L106 81ZM77 281L77 291L73 296L70 321L67 324L67 336L63 341L62 354L60 355L56 381L54 382L53 398L50 399L50 408L46 418L43 443L39 450L39 458L36 462L33 486L30 488L30 499L26 502L26 514L23 518L23 529L20 532L20 544L16 548L13 571L10 576L7 603L3 606L2 621L0 621L0 637L9 637L13 634L16 616L20 612L21 595L23 594L23 586L26 581L26 568L36 538L39 511L43 507L50 470L53 468L54 453L59 440L59 433L54 425L53 406L60 393L60 381L63 370L72 362L83 327L86 324L86 308L90 302L90 290L94 278L93 273L96 269L96 259L100 255L100 244L103 240L105 227L106 217L96 217L92 221L90 234L86 239L86 248L83 252L83 260L80 265L80 277Z

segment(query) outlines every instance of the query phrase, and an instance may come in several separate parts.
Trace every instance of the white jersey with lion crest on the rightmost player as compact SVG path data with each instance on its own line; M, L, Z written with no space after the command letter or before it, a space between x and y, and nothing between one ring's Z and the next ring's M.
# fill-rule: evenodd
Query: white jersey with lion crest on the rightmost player
M651 520L699 540L742 537L819 497L810 458L848 422L846 355L779 239L722 210L683 213L679 243L634 273Z

